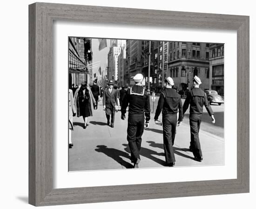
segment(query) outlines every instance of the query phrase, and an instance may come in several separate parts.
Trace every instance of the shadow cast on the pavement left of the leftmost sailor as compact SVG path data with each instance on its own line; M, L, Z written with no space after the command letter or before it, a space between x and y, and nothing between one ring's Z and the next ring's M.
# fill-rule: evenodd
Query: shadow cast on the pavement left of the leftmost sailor
M107 155L108 157L111 157L117 163L121 164L127 169L133 168L133 165L131 163L128 163L121 158L121 157L126 157L130 159L130 156L128 155L127 152L116 150L114 148L108 148L105 145L97 145L97 149L95 149L95 151L104 153L105 155Z

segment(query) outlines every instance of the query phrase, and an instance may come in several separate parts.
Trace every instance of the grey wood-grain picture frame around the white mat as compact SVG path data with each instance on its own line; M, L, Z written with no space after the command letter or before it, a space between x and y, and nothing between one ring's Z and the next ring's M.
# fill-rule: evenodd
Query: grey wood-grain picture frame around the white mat
M154 17L154 18L152 18ZM53 21L237 31L237 178L53 189ZM240 111L243 110L243 111ZM29 203L36 206L249 192L249 17L34 3L29 6Z

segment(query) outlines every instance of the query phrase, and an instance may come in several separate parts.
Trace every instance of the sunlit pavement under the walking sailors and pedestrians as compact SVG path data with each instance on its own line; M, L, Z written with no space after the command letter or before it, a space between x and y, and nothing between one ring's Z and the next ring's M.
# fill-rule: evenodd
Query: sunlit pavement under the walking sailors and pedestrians
M150 99L152 103L152 99ZM155 108L158 98L155 101ZM184 102L184 100L183 100ZM190 132L188 114L183 123L177 127L175 137L175 167L201 166L224 164L223 139L223 110L224 105L212 105L216 116L216 124L212 124L205 110L200 131L203 161L193 160L189 151ZM153 109L153 103L151 104ZM206 114L205 114L206 113ZM82 117L74 117L74 131L72 141L74 147L69 149L69 170L105 170L129 169L130 150L127 142L127 118L121 120L121 112L115 114L115 127L106 124L105 111L102 101L99 101L98 110L93 111L93 117L88 118L89 126L84 130ZM151 114L149 128L142 136L140 168L164 167L165 158L162 144L162 126L154 123L154 113ZM128 113L126 114L128 117ZM159 117L162 120L162 116Z

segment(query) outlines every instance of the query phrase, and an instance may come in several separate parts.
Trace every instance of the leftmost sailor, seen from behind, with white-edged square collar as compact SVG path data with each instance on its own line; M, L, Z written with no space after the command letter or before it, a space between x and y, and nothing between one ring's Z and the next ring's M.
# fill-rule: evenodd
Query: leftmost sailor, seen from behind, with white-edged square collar
M150 120L150 101L147 91L142 87L143 75L136 74L133 79L135 85L127 91L122 102L121 119L125 119L126 108L129 105L127 140L131 150L131 162L134 163L134 168L138 168L141 161L140 150L144 121L146 118L145 126L148 127Z

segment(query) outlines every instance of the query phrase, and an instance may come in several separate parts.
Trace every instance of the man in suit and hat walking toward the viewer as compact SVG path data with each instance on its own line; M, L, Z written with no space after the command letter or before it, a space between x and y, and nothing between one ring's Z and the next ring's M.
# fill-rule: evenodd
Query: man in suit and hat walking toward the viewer
M108 81L108 88L103 92L103 109L106 112L107 124L114 128L115 122L115 110L117 109L117 93L116 90L113 89L113 81ZM111 122L110 122L111 116Z

